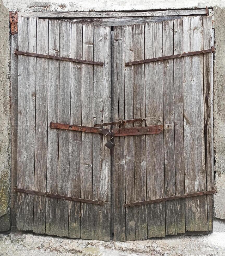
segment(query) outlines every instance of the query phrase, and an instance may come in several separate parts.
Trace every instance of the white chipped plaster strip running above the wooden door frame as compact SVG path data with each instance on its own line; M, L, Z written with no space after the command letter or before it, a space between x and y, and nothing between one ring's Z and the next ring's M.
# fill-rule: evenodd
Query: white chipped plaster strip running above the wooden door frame
M44 0L23 1L3 0L5 6L13 11L120 11L120 10L153 10L225 7L224 0Z

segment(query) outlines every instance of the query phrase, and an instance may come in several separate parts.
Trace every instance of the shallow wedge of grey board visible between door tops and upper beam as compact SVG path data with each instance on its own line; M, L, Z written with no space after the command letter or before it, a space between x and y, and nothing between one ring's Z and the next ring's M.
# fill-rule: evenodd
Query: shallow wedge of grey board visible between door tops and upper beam
M144 24L145 22L160 22L163 20L181 19L182 16L151 16L151 17L115 17L115 18L77 18L63 19L64 21L91 24L96 26L125 26Z

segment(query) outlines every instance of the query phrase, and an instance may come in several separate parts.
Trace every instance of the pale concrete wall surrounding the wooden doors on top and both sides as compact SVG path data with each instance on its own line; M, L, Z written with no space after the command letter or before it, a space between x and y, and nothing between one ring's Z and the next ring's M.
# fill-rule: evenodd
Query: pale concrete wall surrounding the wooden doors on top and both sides
M10 228L10 97L9 11L119 11L215 8L216 59L214 66L214 216L225 219L225 1L223 0L0 0L0 231Z

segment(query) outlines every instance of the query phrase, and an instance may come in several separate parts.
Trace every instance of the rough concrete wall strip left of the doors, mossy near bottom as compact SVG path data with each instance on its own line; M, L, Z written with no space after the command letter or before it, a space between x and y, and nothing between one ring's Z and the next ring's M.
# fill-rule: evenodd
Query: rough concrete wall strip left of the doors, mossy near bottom
M0 0L0 231L10 229L9 11Z

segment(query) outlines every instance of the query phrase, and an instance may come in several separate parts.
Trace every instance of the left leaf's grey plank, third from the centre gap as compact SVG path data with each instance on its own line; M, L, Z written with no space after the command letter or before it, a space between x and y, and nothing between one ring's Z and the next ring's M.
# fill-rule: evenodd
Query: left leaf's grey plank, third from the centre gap
M82 59L82 24L71 24L71 58ZM82 63L71 63L70 123L81 124ZM70 132L69 195L81 197L81 132ZM80 202L69 202L69 237L80 237Z

